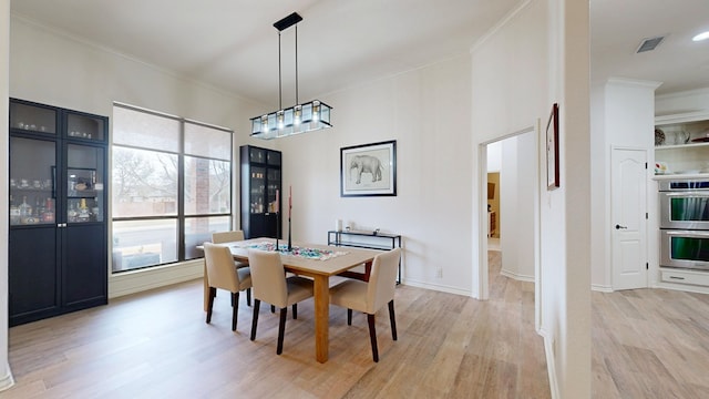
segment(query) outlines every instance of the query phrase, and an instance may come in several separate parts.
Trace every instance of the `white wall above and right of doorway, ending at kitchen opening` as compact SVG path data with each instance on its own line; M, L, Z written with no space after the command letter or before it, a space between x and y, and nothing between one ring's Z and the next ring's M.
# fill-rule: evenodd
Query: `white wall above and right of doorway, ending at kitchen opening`
M542 275L537 288L542 290L542 330L553 395L587 398L588 1L541 0L524 4L473 51L473 144L534 126L538 119L546 121L551 104L559 103L562 186L552 192L544 183L540 187ZM544 153L540 155L540 160L545 158ZM476 186L481 176L476 173L474 178ZM482 204L479 201L473 212L480 213Z

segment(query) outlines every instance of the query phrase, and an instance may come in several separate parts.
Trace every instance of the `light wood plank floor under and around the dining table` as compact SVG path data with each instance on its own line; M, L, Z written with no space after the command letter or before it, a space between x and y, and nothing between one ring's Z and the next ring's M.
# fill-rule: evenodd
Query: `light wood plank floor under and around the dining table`
M548 398L530 283L500 276L491 252L491 300L397 288L399 340L377 315L380 361L367 319L330 308L330 360L315 360L312 300L286 326L261 307L256 341L244 295L237 331L229 297L204 323L202 282L111 300L10 329L17 385L6 398Z

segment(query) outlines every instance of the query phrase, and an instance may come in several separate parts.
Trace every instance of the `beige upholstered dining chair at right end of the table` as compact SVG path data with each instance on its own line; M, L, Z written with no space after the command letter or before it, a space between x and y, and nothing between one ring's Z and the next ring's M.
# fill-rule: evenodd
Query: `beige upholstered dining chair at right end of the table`
M372 358L374 361L379 361L374 314L381 309L384 304L389 305L391 338L397 340L394 290L397 287L397 272L399 269L400 257L401 248L394 248L377 255L372 262L368 283L348 279L330 288L330 304L347 308L348 326L352 325L352 310L367 314L369 339L372 345Z

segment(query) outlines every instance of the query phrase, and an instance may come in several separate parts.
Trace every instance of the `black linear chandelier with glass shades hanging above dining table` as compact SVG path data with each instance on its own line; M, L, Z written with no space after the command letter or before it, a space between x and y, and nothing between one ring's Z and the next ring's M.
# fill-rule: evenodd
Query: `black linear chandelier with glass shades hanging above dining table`
M312 100L306 103L298 102L298 25L302 21L297 12L274 23L278 29L278 111L265 115L251 117L251 136L270 140L285 137L298 133L318 131L332 127L330 124L331 106ZM296 105L284 109L282 105L282 79L280 72L280 32L296 25Z

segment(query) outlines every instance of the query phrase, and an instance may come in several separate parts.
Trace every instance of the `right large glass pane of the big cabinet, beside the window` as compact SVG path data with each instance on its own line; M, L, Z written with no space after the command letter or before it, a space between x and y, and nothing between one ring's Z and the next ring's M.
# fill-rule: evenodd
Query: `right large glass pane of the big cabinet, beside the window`
M105 150L68 144L66 152L66 222L103 222Z

